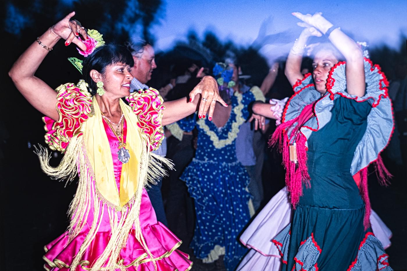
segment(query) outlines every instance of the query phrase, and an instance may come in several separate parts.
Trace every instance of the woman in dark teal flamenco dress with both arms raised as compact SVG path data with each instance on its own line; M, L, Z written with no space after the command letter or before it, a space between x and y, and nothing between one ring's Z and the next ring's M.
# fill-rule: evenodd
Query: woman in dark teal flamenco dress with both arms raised
M285 68L295 93L270 142L282 149L293 206L291 223L271 236L282 270L392 270L370 228L367 191L369 164L384 184L390 176L379 156L393 128L387 79L321 13L293 15L304 27ZM314 48L313 73L302 76L306 41L323 34L333 46Z

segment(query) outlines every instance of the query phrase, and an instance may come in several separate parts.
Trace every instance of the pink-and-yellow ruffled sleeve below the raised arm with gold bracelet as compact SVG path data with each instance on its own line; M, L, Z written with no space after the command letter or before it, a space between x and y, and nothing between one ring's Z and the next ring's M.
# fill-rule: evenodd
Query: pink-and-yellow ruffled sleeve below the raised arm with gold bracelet
M55 90L57 95L58 121L43 117L45 142L54 151L64 152L73 136L81 135L81 124L89 118L92 97L83 85L74 83L60 85Z

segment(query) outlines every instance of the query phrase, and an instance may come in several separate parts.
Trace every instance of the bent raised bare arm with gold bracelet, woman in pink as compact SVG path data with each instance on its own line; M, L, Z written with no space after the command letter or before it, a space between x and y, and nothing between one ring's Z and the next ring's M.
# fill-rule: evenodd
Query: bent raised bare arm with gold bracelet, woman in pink
M9 76L17 89L33 107L45 116L58 120L59 115L56 109L57 92L55 92L44 81L35 76L39 65L42 63L48 52L57 44L59 39L66 39L65 45L76 44L82 50L86 50L85 44L79 39L79 33L87 38L86 31L81 28L79 22L70 21L75 12L69 13L63 20L48 28L48 30L38 37L27 50L15 61L9 71Z

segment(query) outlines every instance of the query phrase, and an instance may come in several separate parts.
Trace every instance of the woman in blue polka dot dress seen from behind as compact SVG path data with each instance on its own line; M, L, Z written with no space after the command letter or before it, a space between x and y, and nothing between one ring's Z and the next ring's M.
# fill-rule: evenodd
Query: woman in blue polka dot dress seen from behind
M220 104L215 105L213 122L196 114L177 122L184 131L198 130L195 158L181 179L195 201L195 235L191 242L195 256L210 263L224 255L226 269L234 270L247 251L237 237L250 219L251 197L247 191L249 175L236 157L235 141L239 126L249 118L249 105L265 98L258 87L239 93L231 80L237 79L236 68L218 63L214 74L219 77L222 98L231 106L218 111Z

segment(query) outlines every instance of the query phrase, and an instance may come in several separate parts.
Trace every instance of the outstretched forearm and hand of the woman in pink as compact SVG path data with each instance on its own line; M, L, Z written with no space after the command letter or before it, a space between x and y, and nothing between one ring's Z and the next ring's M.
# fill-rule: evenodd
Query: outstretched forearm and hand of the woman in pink
M212 76L204 76L201 82L189 93L189 98L189 102L185 98L164 102L165 110L163 111L162 125L168 125L189 116L197 111L198 104L199 118L205 118L208 114L209 120L212 120L217 101L223 106L228 106L219 96L218 83Z

